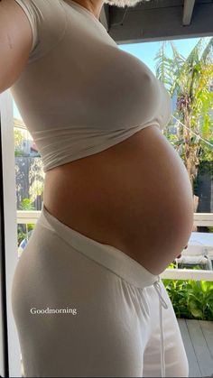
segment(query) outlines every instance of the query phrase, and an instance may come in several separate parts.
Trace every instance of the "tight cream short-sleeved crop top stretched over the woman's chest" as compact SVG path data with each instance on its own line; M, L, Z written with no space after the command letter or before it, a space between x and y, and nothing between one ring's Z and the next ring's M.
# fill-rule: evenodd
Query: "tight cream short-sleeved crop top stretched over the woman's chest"
M32 51L10 88L43 171L106 150L171 117L171 97L143 61L118 48L72 0L15 0L32 26Z

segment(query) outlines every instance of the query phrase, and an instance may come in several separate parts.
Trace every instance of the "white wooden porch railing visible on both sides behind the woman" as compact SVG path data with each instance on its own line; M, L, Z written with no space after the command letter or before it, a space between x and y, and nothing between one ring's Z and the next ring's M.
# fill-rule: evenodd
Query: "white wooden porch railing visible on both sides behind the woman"
M36 224L40 214L41 210L17 210L17 225L29 223ZM194 213L194 226L213 226L213 213ZM187 253L183 250L182 255L183 254ZM213 270L166 268L160 276L163 279L166 278L173 280L213 281Z

